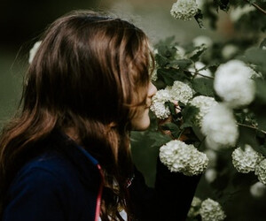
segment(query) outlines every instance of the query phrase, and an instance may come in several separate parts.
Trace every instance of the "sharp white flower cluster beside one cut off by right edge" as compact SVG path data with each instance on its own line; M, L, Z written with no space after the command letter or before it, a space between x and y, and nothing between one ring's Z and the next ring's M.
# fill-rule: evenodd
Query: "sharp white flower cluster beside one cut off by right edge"
M241 148L232 152L232 164L239 172L248 173L254 171L257 164L263 160L262 154L254 151L249 145L245 145L245 150Z

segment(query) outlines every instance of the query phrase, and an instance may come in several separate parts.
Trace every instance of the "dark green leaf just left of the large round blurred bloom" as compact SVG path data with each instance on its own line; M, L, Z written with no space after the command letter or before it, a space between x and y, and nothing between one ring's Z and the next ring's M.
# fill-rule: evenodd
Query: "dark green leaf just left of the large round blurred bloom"
M192 81L193 89L200 95L214 96L214 80L207 78L197 78Z

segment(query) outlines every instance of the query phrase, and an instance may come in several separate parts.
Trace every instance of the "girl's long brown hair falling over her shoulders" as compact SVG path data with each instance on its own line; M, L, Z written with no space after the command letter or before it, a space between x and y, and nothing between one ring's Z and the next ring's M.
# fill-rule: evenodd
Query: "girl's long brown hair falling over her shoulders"
M1 209L16 172L41 151L35 144L54 129L74 128L105 171L102 219L117 219L118 203L130 213L129 130L150 80L146 35L122 19L74 11L53 22L41 40L27 70L20 114L0 139Z

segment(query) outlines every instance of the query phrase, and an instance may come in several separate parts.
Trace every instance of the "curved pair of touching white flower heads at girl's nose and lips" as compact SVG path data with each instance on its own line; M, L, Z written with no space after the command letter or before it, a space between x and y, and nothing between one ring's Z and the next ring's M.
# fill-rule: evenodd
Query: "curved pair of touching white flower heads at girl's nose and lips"
M157 118L164 119L170 115L169 108L165 105L168 101L188 103L192 99L192 88L181 81L175 81L173 86L159 90L152 100L151 110Z

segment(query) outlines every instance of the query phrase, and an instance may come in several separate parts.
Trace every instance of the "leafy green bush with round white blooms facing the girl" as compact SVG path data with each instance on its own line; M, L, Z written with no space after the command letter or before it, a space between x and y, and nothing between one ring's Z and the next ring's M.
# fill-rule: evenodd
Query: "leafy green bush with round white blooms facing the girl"
M235 212L229 207L223 212L221 205L239 199L234 197L243 189L263 197L266 187L266 3L247 2L177 0L170 11L175 19L194 18L200 27L207 21L215 28L220 14L215 11L227 11L239 35L223 42L200 35L186 44L169 37L154 46L158 93L144 136L160 148L170 171L205 172L196 195L217 199L207 199L200 209L192 202L189 220L223 220L225 214L236 220Z

